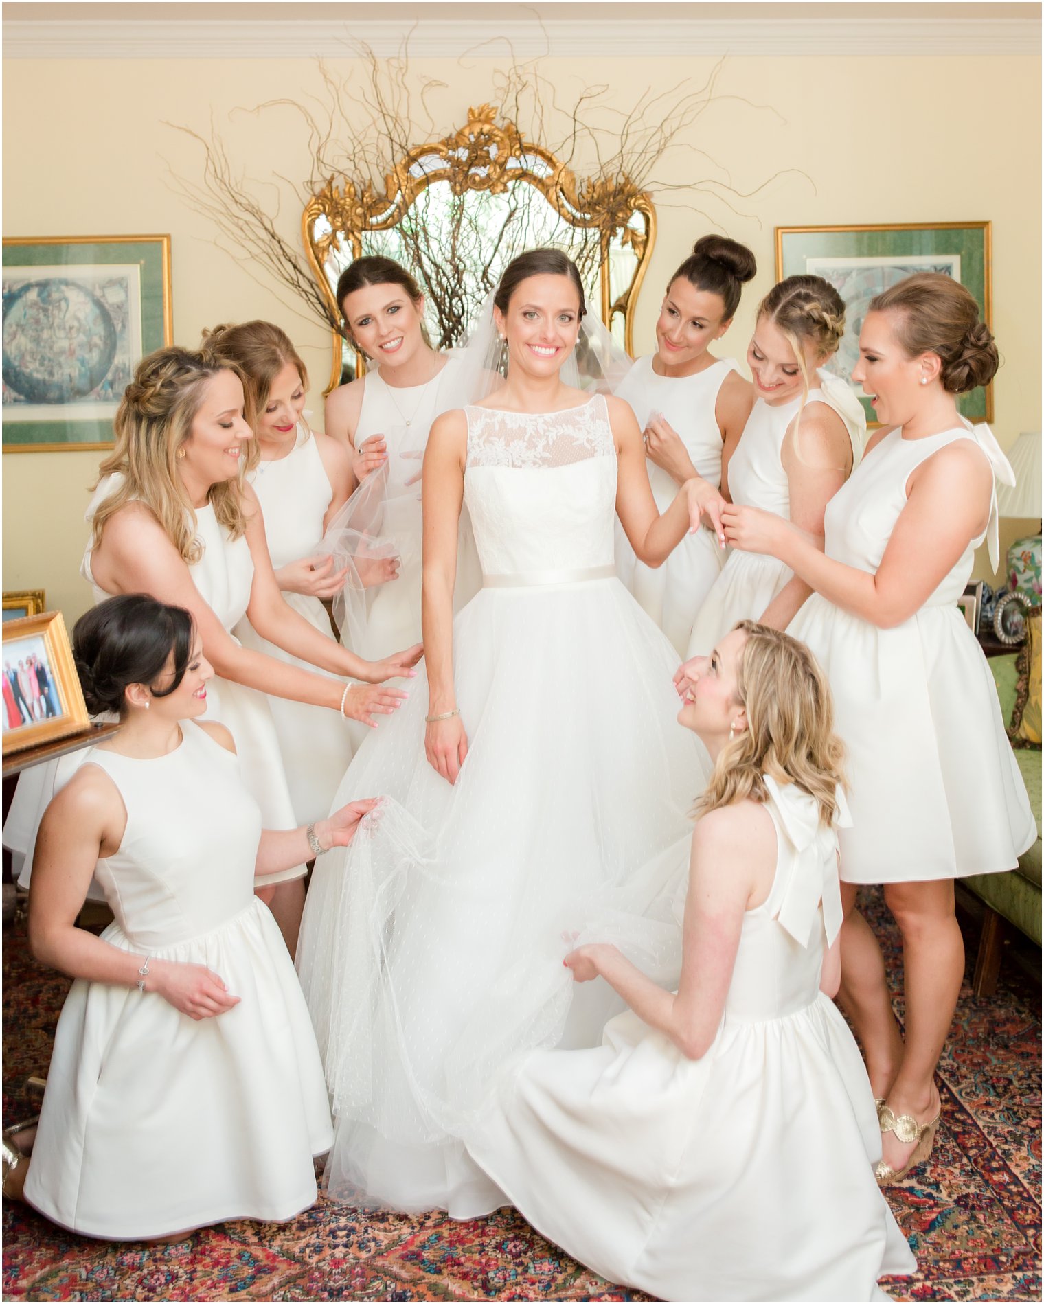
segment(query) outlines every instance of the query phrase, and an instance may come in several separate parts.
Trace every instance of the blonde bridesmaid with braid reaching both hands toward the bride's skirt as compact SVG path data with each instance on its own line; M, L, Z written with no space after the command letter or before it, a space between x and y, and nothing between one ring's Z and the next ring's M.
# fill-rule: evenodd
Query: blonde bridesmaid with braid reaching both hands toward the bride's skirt
M283 601L257 496L244 482L256 458L252 420L232 363L176 347L142 359L116 412L116 445L102 463L87 509L91 539L82 574L97 601L146 593L191 612L215 670L207 717L231 730L265 827L294 828L298 820L266 694L373 724L375 715L390 715L406 696L381 681L410 674L420 648L365 662ZM287 652L334 675L367 682L348 686L241 647L231 630L244 614ZM54 780L39 814L52 792ZM291 952L304 872L301 862L283 871L284 882L262 891Z

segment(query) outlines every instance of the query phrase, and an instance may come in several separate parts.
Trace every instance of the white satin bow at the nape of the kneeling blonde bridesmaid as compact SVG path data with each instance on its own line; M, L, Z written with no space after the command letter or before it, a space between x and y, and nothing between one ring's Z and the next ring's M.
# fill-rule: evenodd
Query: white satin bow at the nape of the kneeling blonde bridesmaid
M765 786L773 798L779 825L797 853L779 906L780 927L786 928L800 945L808 947L813 938L816 911L822 901L823 927L830 945L840 931L844 918L838 875L838 844L834 833L835 828L850 828L852 824L844 793L838 788L838 812L834 816L834 825L823 828L820 823L818 802L796 784L778 784L766 775Z

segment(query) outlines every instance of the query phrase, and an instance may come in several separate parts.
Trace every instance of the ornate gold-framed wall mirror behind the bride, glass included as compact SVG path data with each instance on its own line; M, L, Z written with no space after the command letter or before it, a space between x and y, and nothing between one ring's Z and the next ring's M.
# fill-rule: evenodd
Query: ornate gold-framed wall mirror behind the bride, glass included
M512 258L536 245L577 263L589 309L632 352L638 288L655 240L655 213L626 177L577 180L488 104L467 126L410 154L385 179L384 194L331 179L304 211L313 275L335 316L335 287L355 258L385 254L408 267L425 296L436 348L462 344ZM354 379L364 360L339 334L328 393Z

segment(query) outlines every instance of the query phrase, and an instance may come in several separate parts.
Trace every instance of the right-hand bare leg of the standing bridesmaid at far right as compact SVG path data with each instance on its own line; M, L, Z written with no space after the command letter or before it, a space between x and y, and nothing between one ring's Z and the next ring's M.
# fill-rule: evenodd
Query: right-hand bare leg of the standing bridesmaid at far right
M964 977L964 941L954 914L953 879L890 883L885 900L903 935L906 1047L889 1091L893 1114L928 1123L940 1106L934 1073ZM894 1133L882 1138L885 1162L902 1168L912 1154Z

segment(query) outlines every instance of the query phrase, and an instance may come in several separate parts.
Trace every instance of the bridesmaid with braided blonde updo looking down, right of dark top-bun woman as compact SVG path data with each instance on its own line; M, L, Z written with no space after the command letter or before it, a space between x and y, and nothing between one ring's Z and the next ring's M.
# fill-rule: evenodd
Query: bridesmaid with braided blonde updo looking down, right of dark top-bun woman
M859 462L867 433L855 394L817 373L843 330L844 304L822 278L790 276L769 292L746 352L757 402L727 468L733 503L783 520L800 492L799 524L812 533L822 532L823 509ZM806 596L775 557L731 553L697 613L688 656L706 655L736 621L786 629Z

